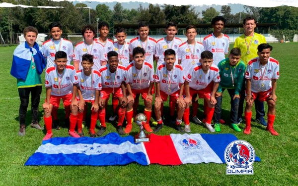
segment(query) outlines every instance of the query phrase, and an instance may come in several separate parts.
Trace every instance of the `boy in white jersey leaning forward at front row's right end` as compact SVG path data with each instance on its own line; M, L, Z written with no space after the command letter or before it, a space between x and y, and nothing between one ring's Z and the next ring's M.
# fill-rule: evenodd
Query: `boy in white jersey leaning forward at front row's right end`
M279 79L279 62L270 57L272 47L268 44L258 46L259 57L253 58L247 64L246 78L246 106L245 106L245 130L244 134L250 134L251 107L255 99L267 101L268 125L266 130L272 135L279 134L273 129L275 120L275 105L277 96L275 94L277 79Z

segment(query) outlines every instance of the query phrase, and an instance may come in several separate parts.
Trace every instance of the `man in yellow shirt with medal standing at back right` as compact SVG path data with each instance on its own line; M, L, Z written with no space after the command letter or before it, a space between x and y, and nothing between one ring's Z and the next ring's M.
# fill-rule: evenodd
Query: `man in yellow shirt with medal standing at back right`
M254 17L247 16L243 20L244 34L236 38L234 47L238 47L241 50L241 60L247 65L248 61L252 58L257 57L257 47L266 43L266 39L263 35L257 34L254 32L257 23ZM245 81L245 79L244 79ZM238 110L238 122L242 121L243 113L243 103L245 99L245 83L242 84L242 89L240 92L240 101L239 101L239 110ZM264 126L267 126L266 121L264 120L265 110L264 103L260 102L258 99L255 100L256 108L256 121Z

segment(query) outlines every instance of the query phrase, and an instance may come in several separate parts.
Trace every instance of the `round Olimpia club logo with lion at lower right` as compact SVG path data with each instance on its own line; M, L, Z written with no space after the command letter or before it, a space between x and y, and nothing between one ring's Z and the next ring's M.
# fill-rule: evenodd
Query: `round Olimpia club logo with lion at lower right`
M224 150L224 160L227 164L226 174L253 175L255 151L252 145L244 140L229 143Z

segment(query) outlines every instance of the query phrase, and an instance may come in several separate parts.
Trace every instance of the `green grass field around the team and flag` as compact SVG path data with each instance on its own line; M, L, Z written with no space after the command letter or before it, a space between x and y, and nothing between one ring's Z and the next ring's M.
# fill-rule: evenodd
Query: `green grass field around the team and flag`
M250 142L261 162L255 162L254 175L225 175L226 164L186 164L160 166L129 164L126 166L28 166L24 163L41 145L45 131L26 128L26 136L17 135L19 97L16 79L10 76L12 53L15 47L0 47L0 185L239 185L239 186L290 186L298 185L298 44L272 44L271 56L280 62L280 79L277 88L277 116L275 129L280 136L272 136L264 127L252 123L252 134L247 136L233 131L228 125L222 126L221 133L231 133L238 139ZM232 47L232 46L231 46ZM231 48L230 47L230 48ZM295 75L296 74L296 75ZM44 74L43 74L44 78ZM45 98L45 89L41 103ZM229 96L224 93L223 119L229 121ZM141 101L142 102L142 101ZM199 118L202 117L202 100ZM40 104L40 111L42 104ZM167 113L165 109L164 113ZM40 123L43 126L43 113ZM59 110L63 119L63 110ZM63 120L61 120L63 121ZM31 123L29 104L26 124ZM245 124L241 124L243 129ZM192 124L192 133L208 133L202 125ZM84 129L87 134L87 129ZM116 129L107 124L107 132ZM133 132L138 132L134 125ZM177 133L171 127L164 127L158 134ZM53 130L54 137L68 136L68 129Z

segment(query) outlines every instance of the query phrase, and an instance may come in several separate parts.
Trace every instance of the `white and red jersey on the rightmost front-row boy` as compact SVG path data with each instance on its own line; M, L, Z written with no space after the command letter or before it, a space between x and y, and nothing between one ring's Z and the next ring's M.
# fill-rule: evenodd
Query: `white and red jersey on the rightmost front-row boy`
M246 67L245 78L251 79L251 91L265 92L272 88L271 79L279 79L279 62L269 57L266 65L261 65L259 57L250 60Z

